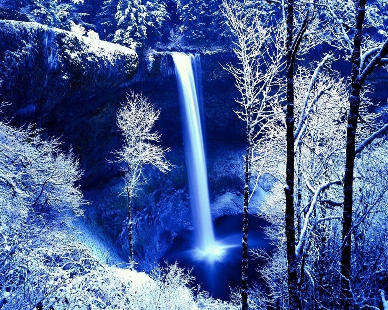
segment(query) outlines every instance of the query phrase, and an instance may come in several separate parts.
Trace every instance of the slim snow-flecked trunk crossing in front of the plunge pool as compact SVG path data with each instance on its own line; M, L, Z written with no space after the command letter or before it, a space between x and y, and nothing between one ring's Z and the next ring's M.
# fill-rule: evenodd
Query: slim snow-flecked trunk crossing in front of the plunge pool
M241 308L248 310L248 202L249 183L251 181L252 163L252 115L251 107L247 108L248 122L246 128L246 153L245 153L245 185L244 205L242 214L242 276L241 276Z

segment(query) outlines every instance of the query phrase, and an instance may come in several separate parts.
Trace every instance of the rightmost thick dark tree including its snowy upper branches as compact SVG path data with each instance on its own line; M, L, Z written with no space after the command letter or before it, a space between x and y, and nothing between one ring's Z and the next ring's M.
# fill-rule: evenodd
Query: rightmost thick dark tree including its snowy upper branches
M347 12L338 12L335 7L331 8L331 14L336 22L338 38L342 45L351 55L352 84L350 90L349 110L347 117L346 130L346 166L343 184L343 225L342 225L342 242L341 246L341 305L344 308L353 307L352 288L351 288L351 264L352 264L352 230L353 230L353 178L355 158L358 153L357 145L357 124L360 119L361 93L365 84L366 77L373 71L374 67L379 64L388 51L388 39L385 41L376 41L369 35L363 34L365 31L365 17L379 26L384 17L377 16L376 12L379 7L372 5L366 7L366 0L357 0L354 5L348 6ZM341 14L342 13L342 14ZM348 22L345 24L345 22ZM366 21L368 22L368 20ZM352 29L353 40L346 27ZM384 33L383 33L384 34ZM386 37L386 33L385 33ZM359 148L371 143L374 138L387 131L387 126L374 128L375 133L361 142ZM360 149L361 150L361 149Z

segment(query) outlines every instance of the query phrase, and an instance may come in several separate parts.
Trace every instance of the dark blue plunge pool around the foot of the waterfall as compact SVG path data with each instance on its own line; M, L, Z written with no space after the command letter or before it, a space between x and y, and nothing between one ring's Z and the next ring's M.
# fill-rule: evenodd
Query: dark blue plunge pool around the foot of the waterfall
M267 252L272 249L262 232L262 227L268 225L265 220L249 215L249 248L262 248ZM226 215L214 221L215 239L229 245L222 260L209 262L196 260L192 256L192 249L196 246L195 233L182 231L175 238L173 246L165 253L164 260L168 263L179 262L179 266L187 270L192 269L191 275L196 278L194 284L201 285L201 289L208 291L213 298L230 300L230 289L241 287L242 260L242 214ZM249 255L248 284L262 282L256 271L264 261Z

